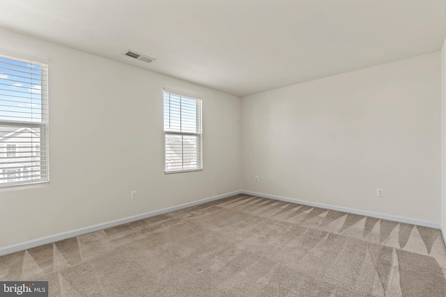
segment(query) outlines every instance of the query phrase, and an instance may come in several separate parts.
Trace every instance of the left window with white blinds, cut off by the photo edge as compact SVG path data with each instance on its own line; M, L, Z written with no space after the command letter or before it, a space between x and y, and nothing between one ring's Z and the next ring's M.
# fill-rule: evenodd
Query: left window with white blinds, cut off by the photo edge
M0 54L0 187L48 182L47 74Z

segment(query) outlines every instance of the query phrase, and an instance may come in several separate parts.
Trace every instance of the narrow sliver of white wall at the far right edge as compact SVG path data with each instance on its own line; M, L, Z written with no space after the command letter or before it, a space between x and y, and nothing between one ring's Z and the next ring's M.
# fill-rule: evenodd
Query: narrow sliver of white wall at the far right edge
M441 225L446 236L446 39L441 49Z

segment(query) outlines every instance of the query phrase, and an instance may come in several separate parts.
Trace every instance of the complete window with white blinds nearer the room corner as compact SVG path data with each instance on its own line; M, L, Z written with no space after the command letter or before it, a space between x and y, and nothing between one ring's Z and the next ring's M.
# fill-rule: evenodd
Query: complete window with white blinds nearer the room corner
M164 90L164 172L203 169L201 100Z

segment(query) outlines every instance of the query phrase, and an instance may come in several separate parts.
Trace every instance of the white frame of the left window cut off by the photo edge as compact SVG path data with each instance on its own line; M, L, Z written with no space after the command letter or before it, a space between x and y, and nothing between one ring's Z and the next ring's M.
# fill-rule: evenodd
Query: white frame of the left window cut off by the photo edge
M39 65L41 67L41 77L43 79L40 80L40 111L41 111L41 118L40 122L34 122L34 121L20 121L20 120L2 120L0 119L0 129L1 126L3 127L14 127L19 131L22 128L27 128L31 130L29 133L37 133L39 137L37 138L36 144L38 144L38 147L40 148L40 152L38 155L34 154L33 151L36 149L36 146L34 144L30 145L29 150L31 151L31 154L29 156L29 159L33 160L36 158L39 158L38 161L31 161L31 164L29 166L24 166L25 168L28 168L26 171L27 175L24 176L23 168L20 168L19 176L17 176L17 179L20 179L16 182L4 182L0 183L0 191L8 190L8 189L14 189L14 188L26 188L30 186L47 186L49 185L49 104L48 104L48 89L49 89L49 65L47 58L40 58L40 57L33 57L28 55L22 55L18 54L13 51L5 51L3 49L0 49L0 58L13 61L13 62L19 62L19 63L29 63L30 65ZM32 83L32 80L31 80ZM32 91L31 91L32 93ZM7 97L6 97L7 98ZM36 132L36 129L38 129L38 132ZM32 137L32 136L31 136ZM20 152L20 145L17 145L17 143L11 142L11 143L4 143L5 144L5 156L8 154L8 149L6 147L7 144L15 144L15 156L10 156L10 158L17 157L17 153ZM1 161L1 160L0 160ZM22 164L18 163L18 161L14 161L12 163L17 163L15 168L18 168L19 166L22 166ZM34 165L33 163L36 163ZM3 163L3 166L6 164ZM2 167L3 167L2 166ZM37 168L37 170L35 169ZM1 172L4 172L3 170L10 170L7 166L0 168ZM14 168L12 168L14 169ZM38 172L38 175L33 176L35 172ZM0 177L4 177L3 175L0 175ZM25 178L26 177L26 178ZM33 177L38 177L38 179L33 179ZM6 179L7 180L7 179Z

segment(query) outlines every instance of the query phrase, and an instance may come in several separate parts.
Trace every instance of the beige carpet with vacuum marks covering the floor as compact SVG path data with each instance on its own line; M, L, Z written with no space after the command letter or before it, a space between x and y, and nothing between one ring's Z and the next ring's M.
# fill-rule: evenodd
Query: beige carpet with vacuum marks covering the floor
M249 195L0 257L50 296L446 296L439 230Z

